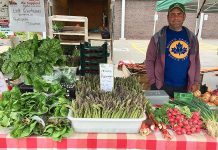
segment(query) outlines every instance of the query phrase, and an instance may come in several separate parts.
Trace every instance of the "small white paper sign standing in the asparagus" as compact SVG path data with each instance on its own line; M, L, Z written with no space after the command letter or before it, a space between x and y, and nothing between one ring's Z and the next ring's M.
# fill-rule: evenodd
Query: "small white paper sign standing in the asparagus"
M114 87L114 66L113 64L100 64L100 88L103 91L111 92Z

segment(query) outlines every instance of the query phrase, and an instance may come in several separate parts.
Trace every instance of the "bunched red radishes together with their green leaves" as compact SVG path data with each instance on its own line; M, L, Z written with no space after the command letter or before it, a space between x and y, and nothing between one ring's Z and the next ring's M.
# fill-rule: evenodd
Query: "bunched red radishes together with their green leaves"
M191 112L187 106L164 104L155 110L155 118L176 132L176 134L199 133L202 121L198 111Z

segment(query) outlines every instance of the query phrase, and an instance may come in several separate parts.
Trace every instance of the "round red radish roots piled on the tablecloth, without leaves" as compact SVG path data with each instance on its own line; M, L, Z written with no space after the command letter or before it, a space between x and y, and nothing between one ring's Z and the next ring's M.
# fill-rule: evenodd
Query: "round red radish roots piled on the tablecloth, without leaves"
M200 132L202 121L199 112L193 112L191 118L186 117L178 108L169 108L167 116L172 128L176 134L192 134Z

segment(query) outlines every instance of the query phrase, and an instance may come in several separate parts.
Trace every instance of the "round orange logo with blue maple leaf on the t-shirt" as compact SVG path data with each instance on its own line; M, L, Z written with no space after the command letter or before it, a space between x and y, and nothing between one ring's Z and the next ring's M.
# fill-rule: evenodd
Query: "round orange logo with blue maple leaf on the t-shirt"
M184 60L188 57L189 46L183 40L172 41L169 45L170 56L177 60Z

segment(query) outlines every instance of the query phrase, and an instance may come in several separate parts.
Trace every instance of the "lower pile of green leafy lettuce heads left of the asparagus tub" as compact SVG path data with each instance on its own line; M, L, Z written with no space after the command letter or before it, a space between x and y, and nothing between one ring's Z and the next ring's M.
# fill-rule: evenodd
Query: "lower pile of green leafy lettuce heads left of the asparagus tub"
M70 101L59 84L34 80L34 92L22 94L18 87L3 93L0 126L10 127L10 135L22 138L43 135L61 140L72 132L66 118Z

